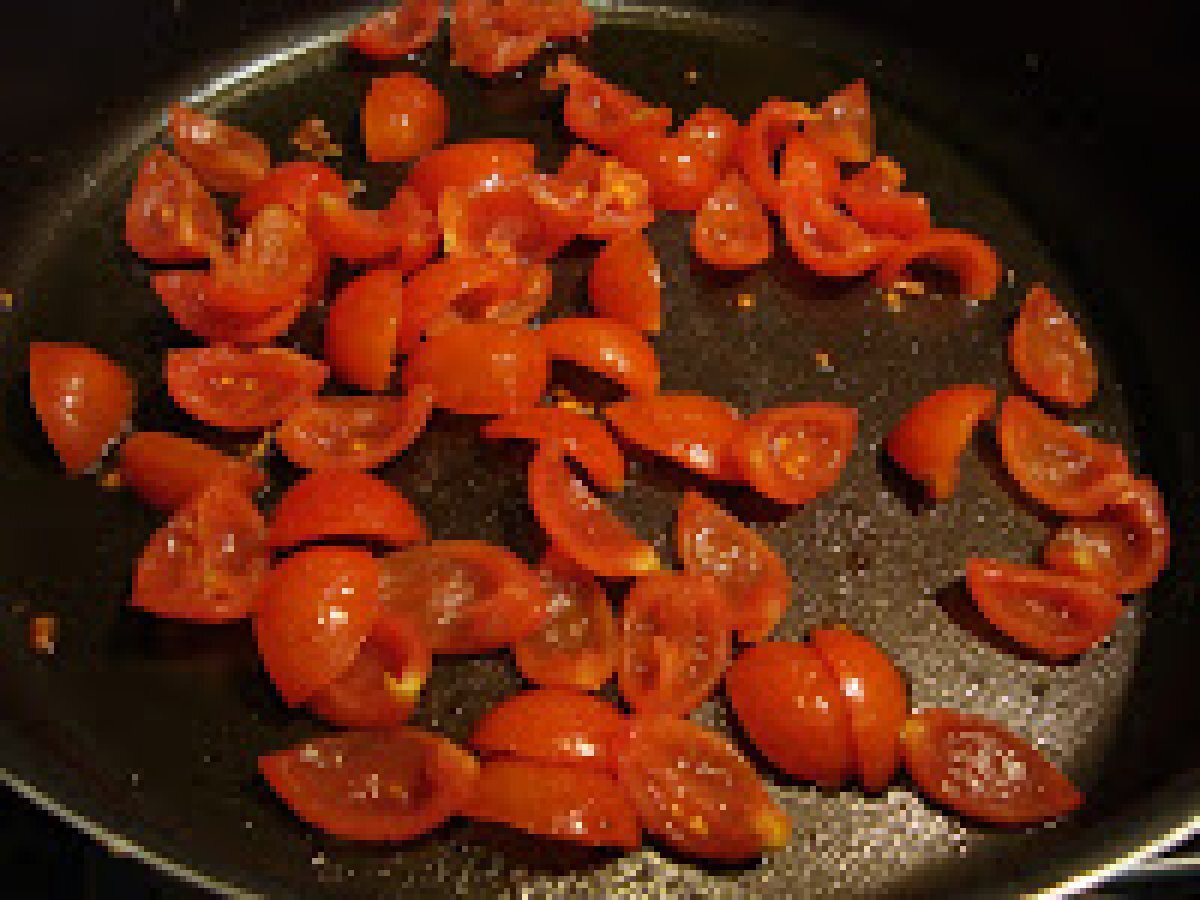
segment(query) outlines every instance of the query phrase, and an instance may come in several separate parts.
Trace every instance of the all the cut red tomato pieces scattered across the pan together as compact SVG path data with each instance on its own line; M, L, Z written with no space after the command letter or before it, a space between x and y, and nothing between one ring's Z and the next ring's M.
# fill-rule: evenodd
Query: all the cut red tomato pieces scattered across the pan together
M592 28L582 0L454 6L455 59L485 77ZM442 13L439 1L404 0L349 43L404 58L436 37ZM262 757L262 774L299 817L340 838L408 840L467 815L618 850L649 833L720 862L782 847L790 817L763 778L685 718L722 684L745 736L790 778L876 793L904 767L925 794L980 821L1069 812L1081 794L1026 742L977 716L912 714L904 676L866 637L828 628L768 642L791 575L768 540L708 496L689 491L679 504L679 570L602 498L625 484L626 445L785 509L833 488L854 450L848 407L745 415L660 390L652 338L664 328L664 277L644 234L659 211L694 214L696 256L725 270L772 256L772 216L823 277L889 286L932 265L986 299L995 253L935 228L900 166L875 155L863 82L816 108L768 100L744 124L702 107L673 130L670 109L572 56L553 61L544 86L564 91L564 122L582 142L552 173L535 170L527 142L443 145L436 86L408 72L373 79L367 157L413 161L383 209L355 205L322 162L272 162L253 134L172 109L174 154L146 156L126 210L132 250L164 266L152 278L164 310L203 342L169 350L162 377L192 418L270 437L305 474L264 516L256 496L266 479L252 458L130 434L136 391L120 365L77 344L32 344L34 407L67 472L103 464L120 444L121 480L169 515L136 564L131 604L252 623L282 700L344 730ZM233 240L214 193L229 200ZM534 326L548 263L581 239L604 242L588 277L595 314ZM274 343L324 300L335 265L353 277L329 304L323 359ZM1045 288L1030 292L1009 349L1044 403L1079 408L1094 395L1086 341ZM546 403L554 362L625 396L598 415ZM330 379L355 392L323 392ZM996 400L988 385L940 390L895 424L887 451L947 500ZM485 419L488 440L533 445L529 503L548 538L536 565L431 536L370 474L403 455L436 408ZM996 430L1015 484L1066 521L1042 566L971 559L967 586L1015 641L1050 660L1076 655L1112 630L1120 595L1165 566L1162 497L1120 448L1022 396L1004 401ZM612 583L628 584L619 610ZM485 714L470 750L404 725L436 656L504 648L535 686ZM590 694L613 679L624 709Z

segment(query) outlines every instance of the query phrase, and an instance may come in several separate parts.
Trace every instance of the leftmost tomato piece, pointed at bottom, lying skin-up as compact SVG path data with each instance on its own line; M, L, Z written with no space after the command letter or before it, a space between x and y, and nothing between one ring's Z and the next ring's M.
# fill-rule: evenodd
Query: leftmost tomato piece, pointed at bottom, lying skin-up
M133 382L108 356L74 343L29 346L29 395L71 475L100 461L133 415Z

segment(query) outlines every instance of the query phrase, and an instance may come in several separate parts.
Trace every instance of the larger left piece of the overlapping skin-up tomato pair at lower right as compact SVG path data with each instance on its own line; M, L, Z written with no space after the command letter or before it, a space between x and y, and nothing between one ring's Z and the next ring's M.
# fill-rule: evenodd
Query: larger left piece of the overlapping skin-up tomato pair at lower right
M750 740L773 764L822 787L850 779L850 708L816 649L792 642L751 647L730 667L725 692Z

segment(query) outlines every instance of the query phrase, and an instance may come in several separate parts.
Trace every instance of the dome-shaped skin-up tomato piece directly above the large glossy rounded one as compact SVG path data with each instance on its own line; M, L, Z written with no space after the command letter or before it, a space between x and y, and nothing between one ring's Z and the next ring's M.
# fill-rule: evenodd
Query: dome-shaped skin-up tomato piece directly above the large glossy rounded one
M286 550L329 538L402 547L425 540L425 523L386 481L349 469L314 472L280 498L268 544Z

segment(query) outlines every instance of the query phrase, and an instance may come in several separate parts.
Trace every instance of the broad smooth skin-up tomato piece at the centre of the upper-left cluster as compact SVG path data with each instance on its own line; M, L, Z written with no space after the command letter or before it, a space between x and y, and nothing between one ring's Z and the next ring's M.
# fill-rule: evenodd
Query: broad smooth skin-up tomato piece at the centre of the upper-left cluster
M505 415L536 406L550 358L529 329L492 323L455 325L408 358L404 386L433 388L437 404L464 415Z

